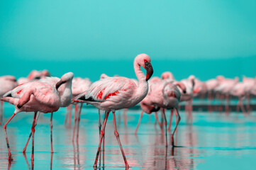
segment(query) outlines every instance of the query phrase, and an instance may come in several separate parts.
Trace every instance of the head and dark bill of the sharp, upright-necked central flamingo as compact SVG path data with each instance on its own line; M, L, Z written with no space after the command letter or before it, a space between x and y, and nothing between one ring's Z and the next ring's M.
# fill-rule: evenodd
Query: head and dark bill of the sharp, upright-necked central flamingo
M141 67L143 67L147 71L146 81L148 81L154 72L151 65L150 57L146 54L140 54L137 55L137 57L135 58L135 62L137 62Z

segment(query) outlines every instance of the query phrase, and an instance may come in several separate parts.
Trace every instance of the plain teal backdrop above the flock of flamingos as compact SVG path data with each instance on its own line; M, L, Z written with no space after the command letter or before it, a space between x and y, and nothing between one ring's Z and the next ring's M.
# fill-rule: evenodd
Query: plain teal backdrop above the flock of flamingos
M202 80L256 74L256 1L0 1L0 75L135 77L133 59L152 58L154 76Z

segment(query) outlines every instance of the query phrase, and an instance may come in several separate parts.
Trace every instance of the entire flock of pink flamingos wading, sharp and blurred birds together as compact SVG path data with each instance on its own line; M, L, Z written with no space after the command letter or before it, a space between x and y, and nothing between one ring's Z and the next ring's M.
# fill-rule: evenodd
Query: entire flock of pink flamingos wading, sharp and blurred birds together
M6 136L7 149L9 152L9 160L13 158L11 156L11 149L6 132L6 126L11 119L19 112L34 112L33 124L31 128L32 136L32 154L31 160L34 159L34 134L35 125L38 119L39 113L51 113L50 117L50 139L51 139L51 152L52 148L52 113L58 111L60 107L67 107L67 111L70 113L73 104L75 106L74 114L74 132L77 126L77 136L79 130L79 117L82 109L82 103L87 103L95 106L99 109L99 147L96 152L96 159L94 167L97 166L99 154L101 152L101 142L104 138L104 132L106 127L106 121L110 112L113 113L113 127L114 135L120 146L123 154L123 160L126 167L129 167L126 160L126 155L123 152L121 140L116 128L116 111L121 109L131 108L138 103L142 112L140 114L140 120L143 113L155 112L156 120L162 127L157 117L157 111L161 111L165 120L165 138L167 146L167 118L165 116L166 109L170 109L171 116L169 121L169 128L171 130L172 115L176 115L176 125L172 132L172 147L174 147L174 133L177 130L180 121L179 115L179 102L186 101L186 111L188 112L188 118L191 119L192 111L192 99L194 96L208 95L208 99L213 99L213 94L216 98L223 99L226 97L226 111L228 111L228 98L230 95L237 96L239 98L238 106L245 113L241 100L246 96L250 101L250 95L256 94L255 79L245 78L243 82L238 82L238 78L225 79L222 76L216 77L216 79L210 79L206 82L199 81L194 76L190 76L188 79L182 81L176 81L171 72L164 72L161 78L150 77L153 74L151 60L148 55L140 54L134 59L134 71L136 79L128 79L126 77L108 77L106 74L101 75L99 81L91 83L89 79L74 78L72 72L64 74L61 78L50 77L50 73L47 70L42 72L33 71L30 72L28 78L20 78L16 81L13 76L0 77L0 98L1 98L1 116L0 123L3 118L3 106L4 101L9 102L15 106L15 111L11 118L4 124L4 132ZM146 75L141 70L143 67L146 70ZM80 107L78 104L80 103ZM103 123L101 125L100 111L105 111ZM250 104L247 105L247 112L250 111ZM70 114L69 114L70 115ZM68 114L66 115L69 116ZM71 120L71 119L69 119ZM138 126L140 124L138 122ZM65 118L67 121L67 118ZM138 131L138 126L135 130L135 134ZM164 133L161 128L162 134ZM29 137L30 139L30 137ZM29 141L28 139L28 141ZM26 143L26 146L28 142ZM26 147L23 149L26 152Z

